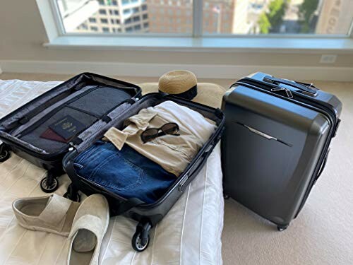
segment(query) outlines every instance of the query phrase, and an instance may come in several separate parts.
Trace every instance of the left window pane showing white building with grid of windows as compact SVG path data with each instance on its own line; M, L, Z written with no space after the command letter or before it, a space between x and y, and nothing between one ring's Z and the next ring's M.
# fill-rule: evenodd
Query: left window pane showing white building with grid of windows
M54 0L66 33L192 33L193 0Z

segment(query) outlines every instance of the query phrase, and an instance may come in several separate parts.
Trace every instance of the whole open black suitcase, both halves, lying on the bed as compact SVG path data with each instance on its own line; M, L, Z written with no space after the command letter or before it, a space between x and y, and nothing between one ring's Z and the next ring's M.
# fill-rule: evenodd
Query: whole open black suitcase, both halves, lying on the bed
M106 196L112 216L124 214L138 221L132 239L132 246L137 251L143 251L148 246L150 228L162 220L201 170L220 141L225 124L224 114L219 109L164 93L150 93L143 97L140 95L140 88L136 85L93 73L82 73L0 120L0 140L4 142L1 146L3 155L11 150L35 165L49 170L48 176L41 182L44 192L54 192L58 187L56 176L63 172L64 166L72 180L64 196L79 200L78 190L87 195L99 193ZM200 112L204 117L213 120L217 129L160 199L153 204L145 204L136 198L125 199L76 174L73 160L92 143L101 139L107 129L112 126L119 128L123 126L125 119L143 108L158 105L166 100ZM48 124L67 114L85 125L70 143L56 143L53 146L50 143L52 141L45 141L40 137Z

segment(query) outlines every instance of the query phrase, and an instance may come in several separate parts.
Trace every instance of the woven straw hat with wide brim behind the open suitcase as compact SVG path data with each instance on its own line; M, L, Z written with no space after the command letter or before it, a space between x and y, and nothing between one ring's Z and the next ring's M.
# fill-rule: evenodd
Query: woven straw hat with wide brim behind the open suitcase
M179 73L179 75L177 73L173 73L173 72L177 72ZM183 73L181 73L183 72ZM169 74L169 73L173 73L173 74ZM185 93L187 92L187 88L193 88L192 85L197 85L196 87L196 92L197 95L195 96L195 98L193 98L191 101L194 102L198 102L201 103L203 105L208 105L210 107L221 107L222 105L222 98L223 95L225 94L225 88L223 88L220 85L217 85L215 83L197 83L196 80L196 76L191 73L191 75L189 74L191 73L190 71L172 71L172 72L168 72L165 73L163 76L167 75L168 78L163 78L163 76L160 78L160 82L159 83L141 83L139 84L140 88L142 88L142 93L143 94L148 94L148 93L154 93L157 92L158 90L163 91L165 93L169 93L169 94L180 94L180 93ZM181 78L179 78L179 76L181 75L187 75L189 76L189 78L186 79L193 79L191 78L191 76L195 76L194 81L186 81L186 79L184 78L184 81L180 81ZM176 76L177 78L173 79L170 78L171 76ZM167 80L169 82L167 82ZM175 84L175 86L167 86L164 85L164 83L172 83ZM185 84L184 86L181 86L180 83ZM188 86L186 86L186 84ZM162 85L162 86L161 86ZM162 89L161 89L162 88ZM184 89L182 89L184 88ZM177 92L177 93L175 93ZM178 95L180 96L180 95Z

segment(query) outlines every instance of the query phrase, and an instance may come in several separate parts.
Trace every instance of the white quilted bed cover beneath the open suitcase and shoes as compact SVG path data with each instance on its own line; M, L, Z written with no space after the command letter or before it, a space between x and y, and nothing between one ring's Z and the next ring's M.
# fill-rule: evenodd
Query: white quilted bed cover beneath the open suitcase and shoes
M15 110L59 82L1 81L0 116ZM39 182L45 171L11 154L0 165L0 264L64 264L66 237L25 230L16 221L13 199L44 196ZM59 178L57 194L70 183ZM131 248L136 222L121 216L111 218L100 252L102 264L222 264L223 226L220 145L210 155L198 177L165 218L152 228L145 252Z

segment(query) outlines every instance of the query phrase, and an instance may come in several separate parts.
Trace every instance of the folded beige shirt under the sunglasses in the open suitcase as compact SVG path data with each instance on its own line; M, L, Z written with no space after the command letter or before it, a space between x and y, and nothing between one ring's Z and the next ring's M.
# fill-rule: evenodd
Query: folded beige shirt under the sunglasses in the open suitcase
M179 125L180 136L164 135L143 143L140 134L145 129L160 128L168 122ZM172 101L140 110L138 114L126 119L125 125L128 126L122 131L110 128L103 140L111 141L119 150L126 143L176 176L191 163L216 129L215 122Z

